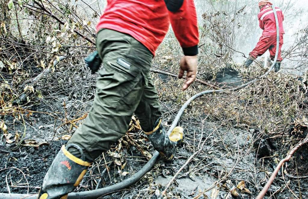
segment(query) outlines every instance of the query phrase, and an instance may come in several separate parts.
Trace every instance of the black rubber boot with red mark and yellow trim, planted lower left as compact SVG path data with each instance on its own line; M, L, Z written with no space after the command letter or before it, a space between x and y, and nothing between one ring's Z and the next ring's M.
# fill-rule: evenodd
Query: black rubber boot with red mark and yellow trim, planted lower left
M81 159L72 155L68 150L78 149ZM75 144L62 146L48 169L38 199L66 199L81 182L91 163L84 161L82 149Z

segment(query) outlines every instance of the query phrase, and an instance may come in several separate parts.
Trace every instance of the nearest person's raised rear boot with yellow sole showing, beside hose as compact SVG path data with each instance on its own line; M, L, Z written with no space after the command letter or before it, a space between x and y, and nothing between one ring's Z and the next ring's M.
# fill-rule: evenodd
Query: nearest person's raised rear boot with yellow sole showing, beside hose
M160 119L155 122L154 126L156 127L151 132L144 133L148 135L150 142L160 153L160 156L165 161L172 161L176 153L176 148L184 139L183 128L180 126L175 127L168 136Z

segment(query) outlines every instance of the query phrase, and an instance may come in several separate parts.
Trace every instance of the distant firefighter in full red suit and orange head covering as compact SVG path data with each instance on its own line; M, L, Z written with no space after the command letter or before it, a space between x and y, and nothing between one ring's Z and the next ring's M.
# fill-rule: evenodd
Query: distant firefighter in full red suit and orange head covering
M263 0L259 2L260 13L258 14L259 25L263 30L262 36L259 39L256 47L249 53L249 58L245 62L245 67L250 66L254 59L261 56L266 52L266 50L270 51L270 58L274 60L276 54L276 45L277 45L277 31L276 31L276 21L274 16L273 5L269 0ZM279 23L279 51L277 62L274 66L275 72L278 72L280 69L280 64L282 61L281 57L281 47L283 44L283 34L285 31L283 30L282 22L284 20L284 16L282 14L282 10L278 7L275 7L278 16Z

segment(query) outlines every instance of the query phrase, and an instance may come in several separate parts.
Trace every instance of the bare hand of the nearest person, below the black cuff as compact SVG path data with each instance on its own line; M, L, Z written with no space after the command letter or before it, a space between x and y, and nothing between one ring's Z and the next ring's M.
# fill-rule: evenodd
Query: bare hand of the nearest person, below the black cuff
M182 87L182 91L186 90L193 81L196 79L198 67L197 55L195 56L183 56L180 61L179 78L183 78L184 71L187 72L186 79Z

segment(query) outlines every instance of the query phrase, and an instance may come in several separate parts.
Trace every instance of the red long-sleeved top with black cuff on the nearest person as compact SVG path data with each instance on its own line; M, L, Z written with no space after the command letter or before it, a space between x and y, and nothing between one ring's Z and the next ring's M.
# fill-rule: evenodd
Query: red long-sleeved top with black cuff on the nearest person
M185 55L198 54L199 33L193 0L184 0L170 12L164 0L107 0L107 7L96 25L131 35L155 55L170 26Z

